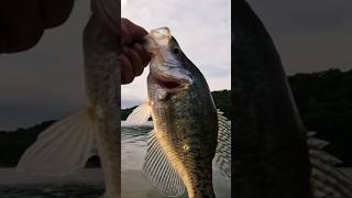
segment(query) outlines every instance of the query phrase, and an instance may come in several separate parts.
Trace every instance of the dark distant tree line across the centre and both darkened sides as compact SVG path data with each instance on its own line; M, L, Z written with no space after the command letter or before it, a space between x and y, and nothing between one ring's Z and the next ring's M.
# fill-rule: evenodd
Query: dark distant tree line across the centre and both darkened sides
M289 76L288 81L306 128L317 131L317 138L329 141L327 151L342 160L344 166L352 166L352 69L296 74ZM211 94L217 108L231 118L230 90ZM134 108L123 109L121 120ZM0 131L0 166L15 166L37 135L54 122L45 121L12 132ZM98 165L98 157L91 157L87 164L89 167Z

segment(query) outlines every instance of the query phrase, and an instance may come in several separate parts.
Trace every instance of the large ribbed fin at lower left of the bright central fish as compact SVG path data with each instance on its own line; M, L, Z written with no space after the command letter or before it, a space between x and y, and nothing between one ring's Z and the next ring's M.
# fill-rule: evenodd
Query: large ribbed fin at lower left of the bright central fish
M165 196L178 197L185 193L185 185L182 178L166 158L153 131L150 132L142 172L148 177L155 188Z

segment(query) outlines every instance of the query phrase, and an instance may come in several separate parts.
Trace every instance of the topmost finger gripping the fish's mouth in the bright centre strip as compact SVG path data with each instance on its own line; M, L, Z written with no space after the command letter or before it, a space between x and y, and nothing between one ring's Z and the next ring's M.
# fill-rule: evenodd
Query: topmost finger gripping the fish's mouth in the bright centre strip
M146 30L132 23L130 20L121 19L122 45L142 41L147 34Z

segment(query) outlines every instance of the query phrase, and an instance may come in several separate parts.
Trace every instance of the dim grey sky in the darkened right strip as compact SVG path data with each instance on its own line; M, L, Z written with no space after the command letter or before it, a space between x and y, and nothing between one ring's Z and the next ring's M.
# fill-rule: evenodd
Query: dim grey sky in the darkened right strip
M351 0L246 0L271 33L286 74L352 68Z

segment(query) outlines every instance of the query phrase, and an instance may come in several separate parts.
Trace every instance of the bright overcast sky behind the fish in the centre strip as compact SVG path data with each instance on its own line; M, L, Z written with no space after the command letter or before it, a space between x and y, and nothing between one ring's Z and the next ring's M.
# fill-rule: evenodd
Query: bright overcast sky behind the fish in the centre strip
M168 26L184 53L204 73L209 87L230 88L230 0L130 0L121 14L148 31ZM122 106L131 99L145 100L146 73L122 87Z

